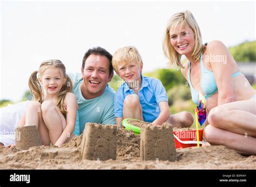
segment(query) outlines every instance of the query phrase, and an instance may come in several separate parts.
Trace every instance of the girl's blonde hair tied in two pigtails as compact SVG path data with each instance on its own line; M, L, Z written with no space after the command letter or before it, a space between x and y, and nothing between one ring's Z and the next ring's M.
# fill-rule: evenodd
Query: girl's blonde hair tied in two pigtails
M64 64L60 60L47 60L41 63L38 71L33 71L29 78L29 88L30 92L33 96L33 100L36 100L40 103L43 103L44 101L44 90L41 86L38 78L37 73L39 74L39 77L42 77L45 70L49 68L57 68L60 71L60 75L66 78L66 82L63 84L62 89L60 89L60 92L58 93L56 97L56 103L60 111L66 116L66 109L64 107L64 99L66 96L66 93L71 92L73 89L73 84L71 81L71 78L66 75L66 68Z

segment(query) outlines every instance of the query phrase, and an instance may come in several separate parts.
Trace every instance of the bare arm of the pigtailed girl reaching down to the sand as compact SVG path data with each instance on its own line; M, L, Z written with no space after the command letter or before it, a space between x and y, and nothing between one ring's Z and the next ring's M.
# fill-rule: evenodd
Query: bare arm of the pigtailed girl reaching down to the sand
M59 136L59 139L56 141L55 146L60 146L70 138L76 124L76 116L77 116L77 99L73 93L67 93L65 97L65 104L66 104L66 126Z

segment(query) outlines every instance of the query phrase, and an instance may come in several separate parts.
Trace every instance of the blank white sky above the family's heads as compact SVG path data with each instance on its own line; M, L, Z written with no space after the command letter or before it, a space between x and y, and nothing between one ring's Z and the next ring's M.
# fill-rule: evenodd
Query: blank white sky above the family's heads
M21 100L32 71L44 60L61 60L79 72L87 49L138 48L143 72L165 68L162 50L169 18L190 10L203 42L227 47L255 40L255 2L88 2L1 1L0 99Z

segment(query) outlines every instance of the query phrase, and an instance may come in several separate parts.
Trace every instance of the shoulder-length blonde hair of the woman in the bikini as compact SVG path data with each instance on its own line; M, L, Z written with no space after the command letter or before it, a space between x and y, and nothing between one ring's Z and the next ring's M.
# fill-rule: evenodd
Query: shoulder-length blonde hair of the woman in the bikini
M194 51L192 53L194 61L200 60L201 52L204 51L204 46L202 42L200 28L197 24L196 19L190 11L184 11L174 14L167 23L165 36L163 41L163 51L164 55L169 59L170 66L175 64L177 67L183 67L181 63L181 54L173 48L170 39L170 32L176 29L177 27L188 26L194 32Z

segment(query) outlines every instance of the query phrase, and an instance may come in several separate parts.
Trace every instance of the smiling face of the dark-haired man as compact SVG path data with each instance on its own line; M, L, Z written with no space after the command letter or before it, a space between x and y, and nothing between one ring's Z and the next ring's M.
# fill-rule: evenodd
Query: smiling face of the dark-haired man
M91 54L85 60L84 70L81 69L83 96L92 99L103 94L106 85L111 81L113 73L109 73L109 59L103 55Z

